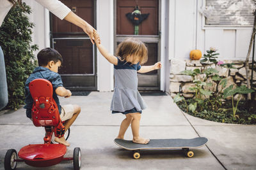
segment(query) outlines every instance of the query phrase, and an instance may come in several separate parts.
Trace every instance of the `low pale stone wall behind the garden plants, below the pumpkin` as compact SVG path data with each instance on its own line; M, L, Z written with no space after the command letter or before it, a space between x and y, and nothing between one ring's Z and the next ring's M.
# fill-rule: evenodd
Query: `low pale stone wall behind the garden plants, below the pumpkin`
M219 71L219 75L222 78L228 78L227 87L230 85L246 85L246 71L244 67L243 60L223 60L226 63L234 63L235 69L227 69L225 67L216 66L213 63L210 64L201 64L200 60L171 60L170 61L170 94L174 97L177 93L181 93L182 96L186 98L194 97L193 92L189 90L189 87L193 87L193 78L191 76L180 74L184 70L193 70L193 69L204 69L205 66L212 67ZM250 75L252 75L252 61L250 64ZM255 64L253 69L255 70ZM205 77L204 74L200 74L201 80ZM207 80L211 81L211 80ZM253 71L253 84L256 85L256 72ZM247 85L246 85L247 86ZM212 82L212 87L209 87L209 90L217 92L221 90L220 85ZM236 96L235 96L236 97ZM244 96L243 96L243 99Z

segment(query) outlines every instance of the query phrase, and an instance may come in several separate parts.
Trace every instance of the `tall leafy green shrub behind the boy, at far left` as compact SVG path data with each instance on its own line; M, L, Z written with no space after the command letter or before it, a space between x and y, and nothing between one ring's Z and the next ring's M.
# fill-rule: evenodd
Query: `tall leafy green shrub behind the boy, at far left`
M0 45L3 49L8 84L9 103L6 108L16 110L24 104L24 83L35 69L33 52L37 45L31 45L33 24L26 15L31 8L25 3L17 4L4 19L0 28Z

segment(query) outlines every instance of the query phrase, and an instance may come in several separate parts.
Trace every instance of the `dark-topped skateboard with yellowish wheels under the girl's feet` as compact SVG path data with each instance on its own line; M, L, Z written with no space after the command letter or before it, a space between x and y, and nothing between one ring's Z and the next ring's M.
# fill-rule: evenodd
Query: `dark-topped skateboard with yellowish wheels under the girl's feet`
M193 139L150 139L147 145L133 143L124 139L115 139L116 145L125 150L132 150L134 159L140 158L140 150L170 150L182 149L186 155L191 158L194 152L190 148L200 148L207 143L207 138L193 138Z

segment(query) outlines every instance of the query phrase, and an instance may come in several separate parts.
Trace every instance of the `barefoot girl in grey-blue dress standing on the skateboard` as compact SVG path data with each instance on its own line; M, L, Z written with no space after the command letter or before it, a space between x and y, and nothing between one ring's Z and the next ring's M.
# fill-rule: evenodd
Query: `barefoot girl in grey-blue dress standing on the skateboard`
M161 68L161 62L153 66L141 66L148 59L148 50L144 43L138 39L128 38L117 46L116 56L111 55L100 44L99 34L94 32L94 39L100 53L114 64L115 89L111 102L112 113L123 113L125 119L120 125L120 131L116 138L124 139L124 134L131 124L132 141L134 143L147 144L150 140L139 135L140 118L142 110L146 108L140 93L138 92L138 73L147 73Z

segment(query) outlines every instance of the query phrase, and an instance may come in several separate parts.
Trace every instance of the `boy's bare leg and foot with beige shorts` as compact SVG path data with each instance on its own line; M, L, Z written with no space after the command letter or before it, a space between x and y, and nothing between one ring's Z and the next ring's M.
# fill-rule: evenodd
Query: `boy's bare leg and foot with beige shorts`
M81 111L80 106L76 104L74 105L69 104L69 105L63 106L60 117L62 121L65 121L65 132L74 123L80 111ZM66 141L64 136L62 136L61 138L55 137L54 141L58 143L62 143L63 145L66 145L66 146L70 146L70 144Z

